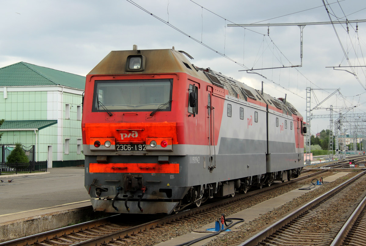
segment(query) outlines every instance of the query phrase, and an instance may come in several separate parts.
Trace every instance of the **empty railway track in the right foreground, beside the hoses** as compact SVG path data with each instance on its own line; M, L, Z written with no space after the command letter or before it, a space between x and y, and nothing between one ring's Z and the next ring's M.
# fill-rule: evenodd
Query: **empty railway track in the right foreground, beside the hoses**
M366 191L363 187L366 185L366 171L355 175L353 178L326 192L313 201L303 205L299 209L280 219L276 223L268 226L256 235L244 241L244 245L341 245L344 236L347 234L347 228L350 228L355 219L347 220ZM361 189L360 189L361 188ZM352 195L350 195L352 194ZM363 206L365 199L363 199ZM360 205L361 206L361 205ZM361 209L359 209L361 210ZM365 231L356 225L353 231ZM342 228L344 225L344 228ZM342 228L342 230L341 230ZM342 234L338 235L341 231ZM356 240L352 238L355 233L348 234L345 242ZM363 245L365 240L363 239ZM345 244L345 245L360 245Z

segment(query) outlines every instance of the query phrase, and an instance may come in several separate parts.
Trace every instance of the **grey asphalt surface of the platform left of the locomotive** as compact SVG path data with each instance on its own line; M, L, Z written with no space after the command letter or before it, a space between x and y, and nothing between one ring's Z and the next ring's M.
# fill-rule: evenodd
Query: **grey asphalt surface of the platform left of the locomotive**
M90 200L84 187L84 167L49 168L48 172L0 176L3 180L0 183L0 215Z

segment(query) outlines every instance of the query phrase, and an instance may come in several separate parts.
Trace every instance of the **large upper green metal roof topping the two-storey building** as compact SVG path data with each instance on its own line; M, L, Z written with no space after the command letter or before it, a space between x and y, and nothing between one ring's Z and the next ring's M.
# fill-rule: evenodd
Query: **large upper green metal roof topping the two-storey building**
M25 62L0 68L0 87L62 85L84 90L85 79L86 77L81 75Z

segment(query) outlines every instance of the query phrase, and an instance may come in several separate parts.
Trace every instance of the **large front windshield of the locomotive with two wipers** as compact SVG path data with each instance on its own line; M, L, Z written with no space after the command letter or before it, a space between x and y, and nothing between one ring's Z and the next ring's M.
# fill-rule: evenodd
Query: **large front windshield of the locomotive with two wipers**
M160 111L171 111L172 85L172 79L95 81L92 112L154 111L162 104Z

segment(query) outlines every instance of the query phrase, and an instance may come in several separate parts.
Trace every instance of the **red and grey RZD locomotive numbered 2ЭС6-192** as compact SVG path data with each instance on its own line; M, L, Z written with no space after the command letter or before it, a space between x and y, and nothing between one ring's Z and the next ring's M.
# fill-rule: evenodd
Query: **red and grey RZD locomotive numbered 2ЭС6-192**
M300 113L186 56L134 46L87 75L82 134L94 210L169 214L300 174Z

